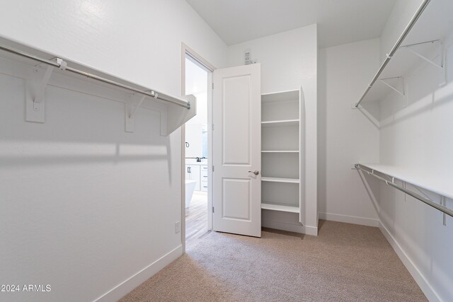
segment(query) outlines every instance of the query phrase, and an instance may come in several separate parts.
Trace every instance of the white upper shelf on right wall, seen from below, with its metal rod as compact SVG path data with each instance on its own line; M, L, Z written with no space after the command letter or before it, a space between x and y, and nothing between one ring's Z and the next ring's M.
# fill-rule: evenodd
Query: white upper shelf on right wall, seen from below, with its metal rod
M452 11L451 0L423 0L355 107L389 93L406 95L403 79L420 62L445 71L441 43L453 29Z

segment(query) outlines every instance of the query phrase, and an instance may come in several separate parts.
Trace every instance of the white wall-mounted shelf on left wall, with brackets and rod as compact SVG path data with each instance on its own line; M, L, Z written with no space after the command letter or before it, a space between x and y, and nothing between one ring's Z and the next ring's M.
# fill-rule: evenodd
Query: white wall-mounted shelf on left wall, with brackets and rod
M134 132L136 112L144 103L161 113L160 134L164 136L171 134L196 115L197 105L193 95L177 98L1 37L0 65L4 74L26 81L27 122L45 122L45 88L48 84L91 95L92 91L96 90L96 95L100 97L104 95L98 91L103 89L106 95L115 95L115 100L122 97L121 101L125 103L126 132ZM93 89L93 85L98 88ZM117 93L111 93L112 90Z

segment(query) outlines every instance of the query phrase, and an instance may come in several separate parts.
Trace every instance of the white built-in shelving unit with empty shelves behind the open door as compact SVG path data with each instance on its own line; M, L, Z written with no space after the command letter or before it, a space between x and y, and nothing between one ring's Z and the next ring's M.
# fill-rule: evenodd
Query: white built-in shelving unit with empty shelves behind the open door
M301 91L261 95L261 209L301 213Z

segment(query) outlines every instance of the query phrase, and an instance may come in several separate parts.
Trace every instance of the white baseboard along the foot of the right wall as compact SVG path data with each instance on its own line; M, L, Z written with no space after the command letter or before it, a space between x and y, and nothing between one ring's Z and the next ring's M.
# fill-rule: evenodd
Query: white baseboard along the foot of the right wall
M417 269L417 267L413 264L412 260L408 257L406 252L401 248L401 246L396 242L394 236L391 235L389 230L382 224L382 222L379 221L379 229L381 232L384 234L384 237L389 241L390 245L392 248L394 248L396 255L398 255L399 259L401 262L403 262L403 265L408 269L409 273L417 282L418 286L420 289L423 291L423 294L425 294L426 298L428 298L429 301L442 301L437 293L432 289L432 286L428 283L427 279L423 276L422 273Z

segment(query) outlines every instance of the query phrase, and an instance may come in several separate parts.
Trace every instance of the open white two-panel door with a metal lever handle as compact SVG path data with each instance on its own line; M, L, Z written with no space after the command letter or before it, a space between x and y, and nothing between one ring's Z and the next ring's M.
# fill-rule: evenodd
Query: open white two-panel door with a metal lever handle
M216 69L213 82L212 227L261 237L260 65Z

